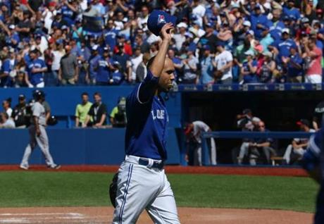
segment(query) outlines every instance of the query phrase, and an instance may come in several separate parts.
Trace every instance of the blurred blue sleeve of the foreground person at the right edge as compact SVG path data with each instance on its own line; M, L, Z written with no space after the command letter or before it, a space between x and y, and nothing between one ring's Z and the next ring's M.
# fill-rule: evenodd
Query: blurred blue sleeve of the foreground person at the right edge
M314 170L320 163L320 146L322 139L323 130L316 132L316 134L312 135L309 139L309 146L301 160L301 166L303 166L305 170Z

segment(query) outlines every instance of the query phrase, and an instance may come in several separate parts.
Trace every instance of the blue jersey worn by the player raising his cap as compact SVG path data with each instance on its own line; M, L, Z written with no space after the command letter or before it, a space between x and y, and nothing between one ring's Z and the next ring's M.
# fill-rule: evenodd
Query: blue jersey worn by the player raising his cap
M158 77L147 77L126 100L127 127L125 153L144 158L166 160L168 113L162 97L156 96Z

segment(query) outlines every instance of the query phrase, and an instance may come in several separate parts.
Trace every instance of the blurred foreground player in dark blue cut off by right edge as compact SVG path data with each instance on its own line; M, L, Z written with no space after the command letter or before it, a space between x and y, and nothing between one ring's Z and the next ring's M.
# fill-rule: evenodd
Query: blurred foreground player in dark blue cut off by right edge
M302 166L309 172L311 178L320 184L314 223L322 224L324 223L324 128L309 139L309 146L302 159Z

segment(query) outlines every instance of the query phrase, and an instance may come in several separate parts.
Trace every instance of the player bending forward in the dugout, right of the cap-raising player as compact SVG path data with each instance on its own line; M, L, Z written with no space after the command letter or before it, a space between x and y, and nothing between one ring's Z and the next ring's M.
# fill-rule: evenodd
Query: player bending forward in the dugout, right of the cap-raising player
M192 137L197 142L197 147L194 149L194 166L202 166L201 163L201 132L211 132L211 127L206 125L206 123L197 120L193 123L189 123L185 129L185 134L192 135ZM209 147L209 158L211 165L216 165L216 144L213 137L211 137L210 147Z

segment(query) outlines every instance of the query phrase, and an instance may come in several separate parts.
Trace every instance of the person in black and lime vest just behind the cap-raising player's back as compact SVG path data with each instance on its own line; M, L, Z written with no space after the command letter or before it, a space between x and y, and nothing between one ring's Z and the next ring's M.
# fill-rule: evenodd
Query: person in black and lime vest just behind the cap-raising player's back
M118 104L113 108L110 114L110 121L113 127L126 127L126 98L119 97Z

